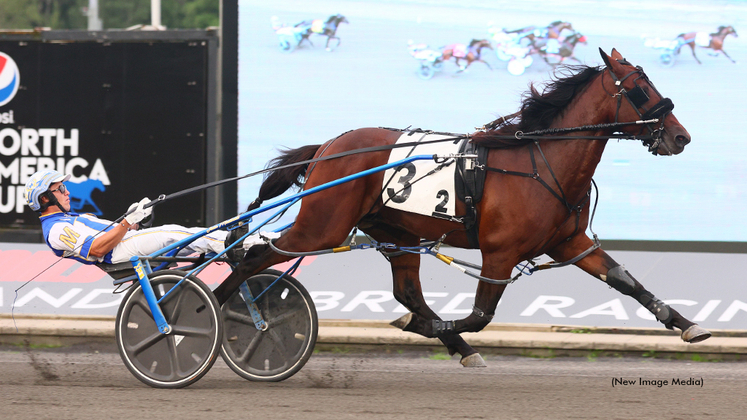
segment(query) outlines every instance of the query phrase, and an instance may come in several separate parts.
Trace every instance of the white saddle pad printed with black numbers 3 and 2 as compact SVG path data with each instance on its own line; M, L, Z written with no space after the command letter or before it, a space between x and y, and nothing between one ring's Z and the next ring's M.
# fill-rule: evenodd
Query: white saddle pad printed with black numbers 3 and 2
M439 134L419 132L405 133L397 143L427 142L452 138ZM414 147L392 149L389 162L396 162L417 155L448 155L459 152L459 142L421 144ZM425 216L451 219L456 215L453 159L436 163L434 160L416 160L397 168L384 171L382 200L386 207L422 214ZM435 171L429 174L431 171Z

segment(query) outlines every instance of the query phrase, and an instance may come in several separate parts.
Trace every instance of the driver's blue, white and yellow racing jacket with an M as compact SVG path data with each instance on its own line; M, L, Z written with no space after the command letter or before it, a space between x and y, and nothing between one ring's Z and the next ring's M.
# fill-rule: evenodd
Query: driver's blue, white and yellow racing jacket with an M
M112 251L103 258L90 255L94 238L109 231L114 224L92 214L55 212L40 216L44 240L58 257L72 258L83 264L111 264Z

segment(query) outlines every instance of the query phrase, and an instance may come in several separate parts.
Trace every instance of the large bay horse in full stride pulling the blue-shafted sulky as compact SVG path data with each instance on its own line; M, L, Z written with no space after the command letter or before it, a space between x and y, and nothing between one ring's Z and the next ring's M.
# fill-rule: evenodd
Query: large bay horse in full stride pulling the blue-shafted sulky
M485 365L480 354L459 334L480 331L490 323L506 288L506 282L495 279L509 279L514 266L544 254L556 261L573 263L603 284L632 297L666 328L681 330L684 341L695 343L707 339L710 332L657 299L586 234L592 176L607 139L649 135L644 145L655 155L663 156L681 153L691 140L671 113L674 107L671 100L661 96L642 68L631 65L614 49L610 56L601 49L600 54L605 66L562 67L542 92L530 86L518 112L464 136L489 148L483 169L487 171L484 194L476 204L477 246L471 245L465 226L458 221L384 206L382 172L304 198L295 224L273 246L283 252L338 247L357 227L378 242L400 247L417 247L421 238L434 241L444 236L443 242L454 247L479 247L482 281L477 285L473 311L455 321L442 320L426 304L419 278L420 255L384 254L392 267L393 294L411 311L393 325L439 338L449 354L461 355L464 366ZM657 122L635 124L650 119ZM578 131L551 139L516 135L569 127ZM397 141L402 131L362 128L324 145L282 152L269 166L279 169L264 180L259 197L249 210L294 185L310 189L386 164L391 152L388 146ZM379 150L350 153L313 165L305 162L369 147ZM284 167L299 162L304 164ZM524 176L516 176L519 173ZM456 211L465 214L467 208L457 200ZM275 252L270 244L251 247L237 268L214 290L218 301L226 302L250 276L292 258Z

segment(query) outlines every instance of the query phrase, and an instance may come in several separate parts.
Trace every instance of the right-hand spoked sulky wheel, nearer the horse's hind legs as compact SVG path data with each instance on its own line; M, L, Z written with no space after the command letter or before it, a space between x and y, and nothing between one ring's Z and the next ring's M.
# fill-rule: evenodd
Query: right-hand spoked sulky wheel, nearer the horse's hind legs
M283 273L265 270L246 281L255 298ZM239 290L223 304L221 357L250 381L277 382L290 378L311 357L319 321L309 292L291 276L277 280L255 302L266 323L258 329Z

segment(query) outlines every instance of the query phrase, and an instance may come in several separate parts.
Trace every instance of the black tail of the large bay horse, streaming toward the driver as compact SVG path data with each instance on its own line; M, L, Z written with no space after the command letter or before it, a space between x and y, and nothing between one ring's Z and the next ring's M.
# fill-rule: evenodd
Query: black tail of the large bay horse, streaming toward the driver
M279 196L294 185L300 187L301 179L306 175L309 164L298 163L312 159L320 147L322 147L321 144L316 144L299 147L298 149L288 149L271 160L267 169L278 169L271 171L265 178L259 188L259 197L249 204L246 211L258 208L263 201Z

